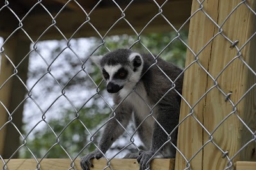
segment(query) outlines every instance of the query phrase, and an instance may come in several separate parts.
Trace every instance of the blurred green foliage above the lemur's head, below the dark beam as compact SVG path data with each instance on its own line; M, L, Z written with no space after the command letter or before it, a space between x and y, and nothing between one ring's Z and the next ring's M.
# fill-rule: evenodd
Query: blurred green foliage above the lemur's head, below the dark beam
M179 38L187 42L188 31L180 32L179 36L174 31L170 33L150 33L148 35L141 35L139 42L137 36L108 36L104 39L104 46L99 48L96 54L104 54L108 52L108 49L115 50L130 47L132 50L141 53L148 53L148 50L150 50L155 56L159 55L160 58L184 68L187 47Z

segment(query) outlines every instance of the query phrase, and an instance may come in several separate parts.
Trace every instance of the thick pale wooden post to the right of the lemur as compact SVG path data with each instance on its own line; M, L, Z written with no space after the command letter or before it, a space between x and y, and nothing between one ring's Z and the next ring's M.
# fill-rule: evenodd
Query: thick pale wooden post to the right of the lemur
M216 1L205 0L203 3L204 12L209 15L219 26L228 17L228 14L241 1ZM253 0L246 1L246 4L255 10L256 2ZM193 0L193 14L200 8L198 1ZM198 54L198 51L211 40L211 38L219 33L218 27L207 17L202 11L196 13L190 22L188 45ZM240 48L256 31L256 19L253 12L241 4L237 10L227 19L223 25L223 35L227 36L232 42L239 40L237 47ZM242 59L248 65L256 70L256 38L252 38L250 42L241 50ZM237 56L237 49L230 48L231 43L222 35L216 36L205 49L197 56L198 63L204 66L214 79L225 68L225 66ZM195 61L195 56L188 50L186 58L186 66ZM184 86L182 95L188 101L189 105L195 105L200 97L206 91L214 86L214 81L207 75L198 63L191 65L184 73ZM236 104L246 91L256 82L256 76L244 65L241 59L235 59L220 77L216 80L218 87L230 95L232 102ZM236 106L236 114L255 132L256 111L255 100L256 89L253 88L241 102ZM180 111L180 121L183 120L191 111L188 105L182 101ZM225 96L218 88L213 88L205 95L198 104L193 108L193 116L204 125L208 132L212 133L221 121L233 111L233 107L229 101L225 102ZM218 144L223 151L228 151L228 157L232 158L248 141L253 139L252 133L241 123L235 114L232 114L226 121L221 123L220 127L212 134L212 141ZM202 128L202 126L193 118L188 116L179 127L177 148L184 154L187 160L193 155L195 157L189 162L191 169L225 169L228 164L223 153L211 143L211 136ZM204 144L206 144L204 146ZM202 146L204 146L202 148ZM241 152L237 153L232 159L232 163L237 160L256 160L255 154L256 144L253 141L248 144ZM177 152L175 169L185 169L186 160Z

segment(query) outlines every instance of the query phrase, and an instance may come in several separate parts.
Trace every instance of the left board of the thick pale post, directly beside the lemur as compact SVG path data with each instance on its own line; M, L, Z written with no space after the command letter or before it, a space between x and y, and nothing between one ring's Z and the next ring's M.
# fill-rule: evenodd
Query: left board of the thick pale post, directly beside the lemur
M198 1L193 1L191 15L198 10ZM218 1L207 1L204 3L204 9L216 20L218 18ZM204 45L209 42L209 40L214 36L214 29L216 27L212 24L211 20L202 12L196 13L190 21L189 26L189 37L188 45L196 53L204 47ZM198 55L200 64L204 66L207 70L209 65L209 60L211 58L211 46L212 42L205 47L205 49ZM195 61L194 54L187 50L186 66L190 65ZM186 72L184 72L184 86L182 91L182 96L188 101L189 105L193 106L196 102L204 95L207 91L207 73L198 66L197 63L191 65ZM188 86L189 84L189 86ZM203 122L203 114L205 107L205 98L203 98L193 109L195 117ZM180 121L182 121L191 112L186 102L182 101L180 107ZM203 128L196 122L191 116L188 117L179 126L178 143L177 148L184 154L187 160L189 160L193 155L200 150L203 143ZM203 164L203 152L200 151L189 164L191 164L192 169L202 169ZM185 169L187 162L184 160L182 155L177 151L175 170Z

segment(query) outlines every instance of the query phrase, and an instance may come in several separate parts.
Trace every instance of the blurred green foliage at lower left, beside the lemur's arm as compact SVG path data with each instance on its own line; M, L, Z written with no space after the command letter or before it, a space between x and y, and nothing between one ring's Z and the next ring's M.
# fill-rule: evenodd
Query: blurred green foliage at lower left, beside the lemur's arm
M88 134L86 128L88 128L90 132L93 132L95 127L108 118L108 113L109 109L99 109L99 106L96 104L93 104L90 108L84 108L79 111L78 118L76 118L75 112L68 110L63 111L61 118L51 119L49 121L46 119L57 137L52 132L51 128L44 123L43 128L36 130L32 137L26 139L26 146L33 151L37 158L44 157L47 150L52 146L53 148L47 153L46 158L67 158L67 154L63 149L72 157L76 157L79 151L83 149L83 146L90 142L91 135ZM86 128L84 128L81 121ZM66 125L68 125L67 128L65 128ZM65 130L63 131L64 128ZM58 135L60 136L58 137ZM100 134L97 133L93 138L97 141L99 135ZM60 145L63 146L63 148L61 148ZM84 151L88 153L88 151L94 149L95 146L90 144ZM29 150L23 147L22 151L20 151L20 158L30 157L32 157L32 155Z

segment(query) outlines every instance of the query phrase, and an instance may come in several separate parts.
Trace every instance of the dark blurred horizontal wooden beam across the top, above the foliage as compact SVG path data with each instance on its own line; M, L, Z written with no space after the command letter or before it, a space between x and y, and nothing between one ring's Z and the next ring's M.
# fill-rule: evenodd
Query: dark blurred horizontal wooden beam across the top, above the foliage
M180 10L182 8L182 10ZM143 9L143 10L142 10ZM170 1L164 4L163 15L172 22L172 24L179 29L179 27L188 19L191 10L191 0L180 0L180 1ZM125 19L129 20L134 29L140 33L141 29L145 27L154 15L158 13L159 9L154 3L139 3L132 4L125 11ZM52 14L55 16L55 14ZM122 13L116 6L109 6L108 8L95 8L95 10L90 15L90 22L99 33L104 36L109 28L122 17ZM56 26L61 30L61 32L69 38L76 29L81 26L86 21L86 15L81 12L61 12L58 17L56 17ZM44 33L45 29L52 24L52 19L49 14L38 14L38 15L28 15L24 22L24 29L27 31L29 36L33 40L37 40L38 37ZM188 28L188 24L184 29ZM163 32L172 31L172 27L163 19L163 17L158 16L154 21L147 26L147 29L143 33L152 32ZM8 29L6 29L8 31ZM114 26L108 35L120 35L129 34L136 35L131 27L122 20ZM98 36L97 32L90 26L90 24L84 24L83 27L77 31L74 38L77 37L88 37L88 36ZM27 38L24 33L20 34L20 37ZM57 31L55 27L48 29L44 36L40 40L55 40L63 39L63 36Z

